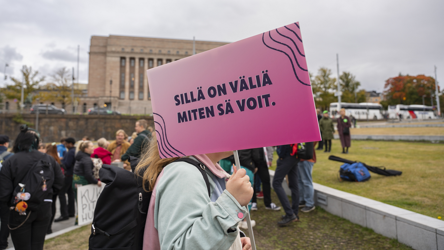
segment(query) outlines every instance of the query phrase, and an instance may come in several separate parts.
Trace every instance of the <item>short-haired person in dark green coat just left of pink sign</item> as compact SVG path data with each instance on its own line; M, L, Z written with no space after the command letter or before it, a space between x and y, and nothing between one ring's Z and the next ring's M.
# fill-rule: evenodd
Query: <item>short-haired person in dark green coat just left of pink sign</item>
M136 121L135 130L137 137L134 139L134 143L127 149L127 152L122 155L122 161L128 160L130 156L140 158L143 147L148 147L151 141L151 132L147 130L148 122L145 119Z

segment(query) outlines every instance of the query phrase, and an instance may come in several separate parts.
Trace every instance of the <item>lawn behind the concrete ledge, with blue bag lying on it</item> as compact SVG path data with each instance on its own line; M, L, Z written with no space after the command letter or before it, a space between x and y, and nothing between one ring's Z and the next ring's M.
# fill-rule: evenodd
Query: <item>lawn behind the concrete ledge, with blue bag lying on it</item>
M332 141L332 152L316 150L313 181L434 218L444 217L444 144L401 141L352 141L349 154L341 153L341 142ZM365 182L338 181L341 162L329 155L359 160L371 166L402 171L400 176L370 172ZM275 152L273 166L276 167Z

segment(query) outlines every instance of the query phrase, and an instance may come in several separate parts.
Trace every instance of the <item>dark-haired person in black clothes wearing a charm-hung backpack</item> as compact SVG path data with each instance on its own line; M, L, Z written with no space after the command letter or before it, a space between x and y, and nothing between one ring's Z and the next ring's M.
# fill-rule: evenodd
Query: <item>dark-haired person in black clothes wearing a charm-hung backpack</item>
M12 207L9 213L8 227L11 230L11 238L16 250L43 249L45 234L51 220L52 194L59 192L63 187L64 177L59 163L53 157L37 151L40 137L36 131L26 125L20 127L20 133L14 141L14 155L0 171L0 202ZM44 161L54 170L54 183L46 186L46 195L36 211L27 211L27 215L20 215L14 210L12 194L20 181L24 179L28 171L37 161ZM42 189L44 185L42 185Z

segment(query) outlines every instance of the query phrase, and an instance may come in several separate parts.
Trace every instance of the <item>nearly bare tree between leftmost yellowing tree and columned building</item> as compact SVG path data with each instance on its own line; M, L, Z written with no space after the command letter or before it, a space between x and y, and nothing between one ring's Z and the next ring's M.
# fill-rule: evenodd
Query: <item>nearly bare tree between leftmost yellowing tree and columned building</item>
M42 101L56 101L62 104L63 108L67 104L71 104L71 81L72 75L65 67L57 69L51 75L52 82L44 86L44 90L40 92ZM75 89L74 95L81 94L81 90ZM75 97L77 99L77 97Z

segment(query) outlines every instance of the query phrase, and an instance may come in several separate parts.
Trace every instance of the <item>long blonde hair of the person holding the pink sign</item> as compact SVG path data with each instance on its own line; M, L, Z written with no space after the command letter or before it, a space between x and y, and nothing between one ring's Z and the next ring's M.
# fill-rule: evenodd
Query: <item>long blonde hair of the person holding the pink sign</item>
M179 157L161 159L157 145L157 139L154 135L151 139L148 149L143 150L143 156L137 164L135 173L143 178L143 190L150 192L154 188L157 176L163 167L175 161Z

